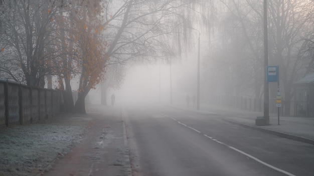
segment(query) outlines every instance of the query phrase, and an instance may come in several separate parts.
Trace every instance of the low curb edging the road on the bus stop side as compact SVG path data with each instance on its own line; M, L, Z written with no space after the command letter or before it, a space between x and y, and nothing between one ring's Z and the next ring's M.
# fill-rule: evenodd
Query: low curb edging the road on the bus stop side
M222 120L226 121L226 122L229 122L229 123L232 123L232 124L243 126L243 127L246 127L246 128L250 128L250 129L258 130L258 131L261 131L261 132L265 132L265 133L277 135L277 136L280 136L280 137L284 137L284 138L288 138L288 139L292 139L292 140L296 140L296 141L300 141L300 142L304 142L304 143L308 143L308 144L314 145L314 140L309 139L309 138L305 138L305 137L301 137L301 136L297 136L297 135L292 135L292 134L287 134L287 133L279 132L279 131L275 131L275 130L269 130L269 129L265 129L263 127L253 126L253 125L241 123L241 122L238 122L238 121L234 121L234 120L231 120L231 119L223 118Z

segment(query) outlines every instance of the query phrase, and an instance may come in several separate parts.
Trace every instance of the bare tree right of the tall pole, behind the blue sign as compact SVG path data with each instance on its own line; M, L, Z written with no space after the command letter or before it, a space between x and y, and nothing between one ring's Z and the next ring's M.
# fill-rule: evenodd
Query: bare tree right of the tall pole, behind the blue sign
M272 42L272 64L280 66L280 80L284 89L284 113L290 112L292 84L305 71L298 57L304 38L313 31L313 2L304 0L272 0L269 3L269 33Z

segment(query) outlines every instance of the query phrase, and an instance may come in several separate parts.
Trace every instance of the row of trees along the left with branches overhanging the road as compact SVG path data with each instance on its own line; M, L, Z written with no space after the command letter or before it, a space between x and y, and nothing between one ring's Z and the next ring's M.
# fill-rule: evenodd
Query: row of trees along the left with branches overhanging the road
M180 55L209 1L0 0L0 77L59 88L69 112L85 113L99 83L118 87L129 62ZM78 99L73 102L73 83ZM52 86L55 87L52 87Z

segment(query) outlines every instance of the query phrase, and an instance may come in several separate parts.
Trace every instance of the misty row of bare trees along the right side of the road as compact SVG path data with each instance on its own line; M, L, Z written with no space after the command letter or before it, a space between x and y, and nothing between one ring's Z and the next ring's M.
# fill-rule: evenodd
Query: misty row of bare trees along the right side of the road
M263 0L219 0L214 33L203 58L205 92L263 97ZM268 65L279 65L280 92L290 114L293 83L314 71L314 1L267 0ZM269 83L276 98L277 83Z

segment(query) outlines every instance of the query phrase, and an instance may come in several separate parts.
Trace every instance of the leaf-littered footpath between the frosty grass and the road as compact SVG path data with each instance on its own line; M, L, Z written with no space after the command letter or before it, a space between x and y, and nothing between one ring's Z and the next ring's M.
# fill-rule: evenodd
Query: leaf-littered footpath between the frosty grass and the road
M57 159L43 175L131 175L121 109L92 105L86 110L92 123L83 140L71 152Z

